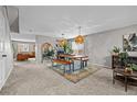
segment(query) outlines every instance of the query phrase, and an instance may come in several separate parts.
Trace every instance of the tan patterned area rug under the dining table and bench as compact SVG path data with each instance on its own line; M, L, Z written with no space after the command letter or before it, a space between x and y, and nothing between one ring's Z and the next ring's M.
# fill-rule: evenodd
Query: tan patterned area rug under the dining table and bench
M98 71L101 69L101 68L96 68L93 66L88 66L84 69L75 70L74 72L71 72L71 73L70 72L64 73L63 68L61 68L61 67L50 67L50 68L53 69L54 71L56 71L57 73L60 73L61 76L63 76L65 79L72 81L74 83L95 73L96 71Z

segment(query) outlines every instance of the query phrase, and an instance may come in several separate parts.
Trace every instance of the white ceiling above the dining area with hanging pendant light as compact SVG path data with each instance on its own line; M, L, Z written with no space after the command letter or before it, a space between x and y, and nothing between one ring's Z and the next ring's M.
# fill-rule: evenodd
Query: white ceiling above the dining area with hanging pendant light
M61 37L75 37L78 26L82 34L137 24L137 7L51 7L24 5L19 8L20 32Z

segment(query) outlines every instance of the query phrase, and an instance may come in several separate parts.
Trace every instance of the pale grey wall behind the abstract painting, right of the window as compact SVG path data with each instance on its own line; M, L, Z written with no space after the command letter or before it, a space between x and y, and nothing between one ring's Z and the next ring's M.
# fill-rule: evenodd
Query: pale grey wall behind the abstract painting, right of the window
M137 25L88 35L86 37L86 50L89 63L110 67L112 48L114 46L123 48L123 35L130 33L137 33ZM134 53L134 55L137 55L137 53Z

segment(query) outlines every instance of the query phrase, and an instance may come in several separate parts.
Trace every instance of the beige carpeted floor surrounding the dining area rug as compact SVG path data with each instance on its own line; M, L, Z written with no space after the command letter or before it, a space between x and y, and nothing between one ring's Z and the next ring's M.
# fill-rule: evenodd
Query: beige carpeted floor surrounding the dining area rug
M112 70L102 68L95 73L73 83L48 68L48 64L18 63L12 70L1 95L137 95L137 87L112 82Z

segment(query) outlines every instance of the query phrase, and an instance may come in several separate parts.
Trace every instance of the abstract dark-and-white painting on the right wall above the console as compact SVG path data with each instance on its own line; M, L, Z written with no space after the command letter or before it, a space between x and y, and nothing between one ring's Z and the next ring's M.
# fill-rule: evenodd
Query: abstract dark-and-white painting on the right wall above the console
M136 33L124 35L123 43L124 43L123 49L125 52L137 52L137 34Z

